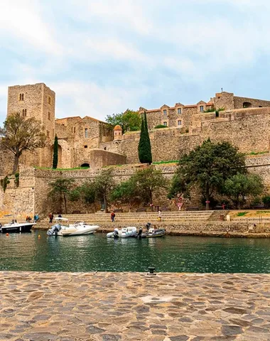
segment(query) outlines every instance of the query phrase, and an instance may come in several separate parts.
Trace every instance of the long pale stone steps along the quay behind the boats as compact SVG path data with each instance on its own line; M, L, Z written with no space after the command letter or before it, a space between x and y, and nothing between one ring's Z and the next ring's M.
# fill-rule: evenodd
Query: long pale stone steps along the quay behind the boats
M210 220L213 211L183 211L183 212L162 212L161 223L180 224L188 222L207 222ZM158 212L116 212L115 222L117 224L145 224L152 222L156 224L158 220ZM87 224L108 224L111 222L110 213L97 212L92 214L74 214L63 215L68 218L70 223L76 221L85 221ZM48 218L42 220L41 223L48 224Z

